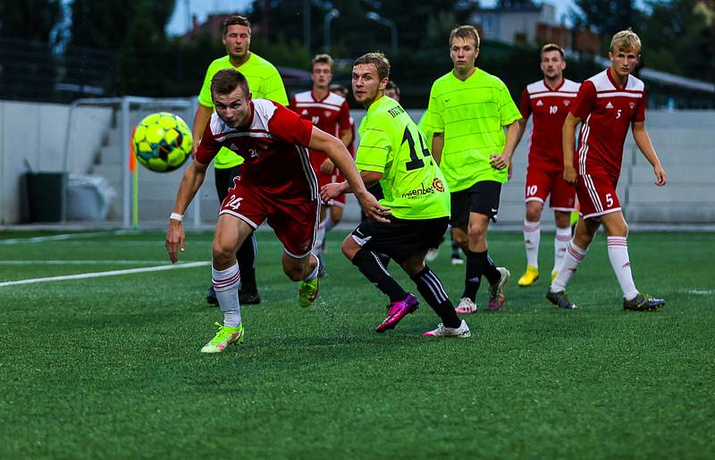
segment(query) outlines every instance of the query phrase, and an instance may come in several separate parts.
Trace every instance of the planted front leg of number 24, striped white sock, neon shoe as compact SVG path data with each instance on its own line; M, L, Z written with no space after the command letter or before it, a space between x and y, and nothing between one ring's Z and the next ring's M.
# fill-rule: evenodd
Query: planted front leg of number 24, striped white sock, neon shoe
M201 348L202 353L221 353L232 343L243 342L243 324L240 318L240 270L236 251L253 231L247 222L230 214L219 215L212 246L211 278L218 304L223 312L223 324L216 322L219 330Z

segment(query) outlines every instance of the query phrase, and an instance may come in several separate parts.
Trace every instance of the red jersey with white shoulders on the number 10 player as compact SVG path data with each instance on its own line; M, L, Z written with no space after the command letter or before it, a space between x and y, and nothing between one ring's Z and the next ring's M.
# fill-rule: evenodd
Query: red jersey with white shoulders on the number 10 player
M519 112L525 120L529 115L534 116L526 145L529 166L544 171L563 171L561 129L579 87L576 81L564 79L559 87L550 88L542 79L522 91Z

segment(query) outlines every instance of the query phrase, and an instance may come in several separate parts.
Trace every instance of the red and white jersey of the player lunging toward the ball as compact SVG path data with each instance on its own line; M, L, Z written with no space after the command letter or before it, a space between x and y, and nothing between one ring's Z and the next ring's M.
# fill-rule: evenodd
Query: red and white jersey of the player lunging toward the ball
M307 153L313 125L267 99L254 99L250 105L247 128L229 128L216 113L211 115L198 145L198 162L211 163L221 147L226 147L245 160L241 166L243 182L269 195L309 194L317 199L317 180Z

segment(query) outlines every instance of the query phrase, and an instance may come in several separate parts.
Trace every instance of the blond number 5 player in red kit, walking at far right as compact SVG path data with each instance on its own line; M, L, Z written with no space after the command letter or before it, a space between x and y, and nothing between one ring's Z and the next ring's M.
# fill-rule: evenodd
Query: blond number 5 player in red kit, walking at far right
M608 234L610 264L623 291L623 308L651 311L665 305L665 300L635 289L628 258L628 225L616 195L623 143L629 127L635 144L652 164L655 184L663 186L667 180L645 130L644 82L631 75L640 52L641 40L632 30L621 30L614 35L610 42L610 67L582 83L564 122L564 180L576 184L581 210L576 234L546 294L552 304L561 308L576 308L566 295L566 285L601 224ZM574 161L578 123L582 125Z

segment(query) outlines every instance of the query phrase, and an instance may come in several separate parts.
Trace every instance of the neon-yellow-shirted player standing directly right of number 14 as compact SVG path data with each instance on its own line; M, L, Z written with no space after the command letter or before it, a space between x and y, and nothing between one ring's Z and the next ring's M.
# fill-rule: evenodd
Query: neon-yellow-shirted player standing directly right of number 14
M479 34L473 26L451 31L454 69L434 81L427 107L432 153L451 190L452 233L467 255L465 288L457 307L461 314L476 311L483 274L490 284L490 310L499 310L505 302L510 273L497 268L487 254L486 232L499 212L501 184L508 180L521 119L501 79L475 67L478 54Z

